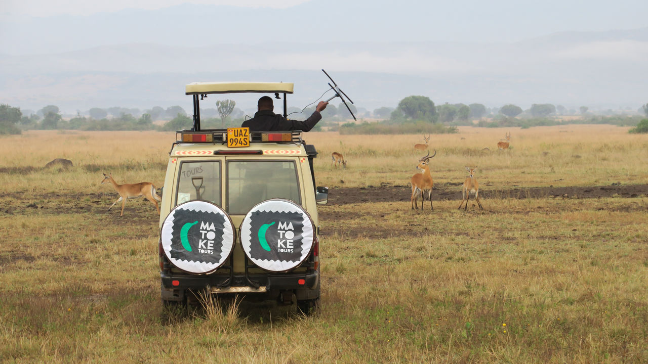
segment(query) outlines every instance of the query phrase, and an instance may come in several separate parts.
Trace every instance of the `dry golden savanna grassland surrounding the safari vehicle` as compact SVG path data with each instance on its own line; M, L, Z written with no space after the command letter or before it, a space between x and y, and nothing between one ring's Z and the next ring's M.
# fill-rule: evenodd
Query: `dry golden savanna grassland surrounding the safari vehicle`
M482 154L506 131L511 150ZM318 185L409 181L421 136L360 138L307 134L320 152ZM645 195L491 199L468 212L435 201L424 214L409 201L325 205L318 315L247 302L165 310L154 206L129 201L119 218L106 212L116 192L98 183L112 172L118 183L159 187L173 140L46 131L0 139L3 362L648 360ZM648 139L611 126L465 128L433 135L430 146L436 183L461 181L465 165L499 187L639 184L648 172ZM348 168L330 167L333 151ZM75 167L41 170L55 157Z

